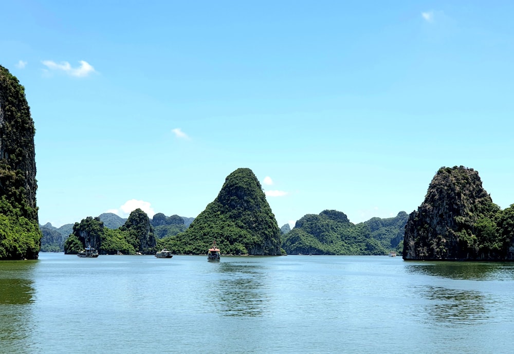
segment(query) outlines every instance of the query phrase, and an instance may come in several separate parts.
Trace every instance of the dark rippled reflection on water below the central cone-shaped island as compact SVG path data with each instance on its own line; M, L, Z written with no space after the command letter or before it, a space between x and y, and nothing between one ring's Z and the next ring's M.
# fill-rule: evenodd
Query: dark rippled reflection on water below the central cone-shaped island
M262 316L265 314L265 278L262 263L223 262L217 269L221 275L216 285L214 306L227 316Z

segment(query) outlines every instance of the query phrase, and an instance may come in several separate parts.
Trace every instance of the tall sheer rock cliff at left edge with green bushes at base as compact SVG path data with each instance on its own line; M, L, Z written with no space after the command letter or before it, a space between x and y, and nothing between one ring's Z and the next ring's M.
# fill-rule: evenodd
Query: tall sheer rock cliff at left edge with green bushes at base
M0 259L40 251L34 134L25 89L0 66Z

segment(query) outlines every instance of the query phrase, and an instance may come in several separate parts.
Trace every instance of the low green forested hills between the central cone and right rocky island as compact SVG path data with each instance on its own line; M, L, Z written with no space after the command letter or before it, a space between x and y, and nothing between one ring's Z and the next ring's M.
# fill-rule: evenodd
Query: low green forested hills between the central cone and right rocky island
M288 254L383 255L397 249L406 221L407 214L401 212L395 218L354 225L344 213L324 210L298 220L283 235L282 247Z

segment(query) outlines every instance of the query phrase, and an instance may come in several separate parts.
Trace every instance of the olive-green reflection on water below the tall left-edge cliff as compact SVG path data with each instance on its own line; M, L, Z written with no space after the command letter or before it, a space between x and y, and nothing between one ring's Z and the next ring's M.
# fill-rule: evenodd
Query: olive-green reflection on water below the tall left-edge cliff
M37 262L0 262L0 343L12 343L0 350L3 353L27 352L27 339L33 328L27 307L33 303L33 270Z

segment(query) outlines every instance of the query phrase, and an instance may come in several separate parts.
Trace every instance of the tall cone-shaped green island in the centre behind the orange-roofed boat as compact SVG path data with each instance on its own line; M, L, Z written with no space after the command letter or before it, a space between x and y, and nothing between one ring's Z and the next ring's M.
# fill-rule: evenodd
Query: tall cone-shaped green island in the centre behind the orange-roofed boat
M250 169L237 169L228 175L216 199L189 228L159 240L159 246L175 253L205 254L213 240L223 253L282 253L277 220Z

